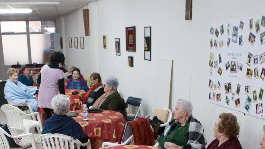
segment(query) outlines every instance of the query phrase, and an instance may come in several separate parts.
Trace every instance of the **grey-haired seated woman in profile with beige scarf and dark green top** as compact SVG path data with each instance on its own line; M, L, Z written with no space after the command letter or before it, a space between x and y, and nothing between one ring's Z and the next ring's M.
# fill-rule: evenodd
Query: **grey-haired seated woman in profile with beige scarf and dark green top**
M115 76L108 77L104 84L105 93L96 100L92 108L118 111L126 118L125 108L127 104L124 102L124 99L120 97L117 91L118 86L119 81Z

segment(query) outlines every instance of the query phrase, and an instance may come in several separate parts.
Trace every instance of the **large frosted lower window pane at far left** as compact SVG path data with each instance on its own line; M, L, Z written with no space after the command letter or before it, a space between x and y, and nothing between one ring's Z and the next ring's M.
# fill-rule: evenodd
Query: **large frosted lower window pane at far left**
M2 35L2 43L5 65L29 64L26 34Z

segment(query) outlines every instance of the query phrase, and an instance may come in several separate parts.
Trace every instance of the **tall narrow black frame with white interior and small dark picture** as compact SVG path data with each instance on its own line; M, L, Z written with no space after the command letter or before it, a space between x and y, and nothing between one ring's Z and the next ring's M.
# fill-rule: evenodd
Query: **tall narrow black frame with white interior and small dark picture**
M151 26L144 27L144 59L151 61Z

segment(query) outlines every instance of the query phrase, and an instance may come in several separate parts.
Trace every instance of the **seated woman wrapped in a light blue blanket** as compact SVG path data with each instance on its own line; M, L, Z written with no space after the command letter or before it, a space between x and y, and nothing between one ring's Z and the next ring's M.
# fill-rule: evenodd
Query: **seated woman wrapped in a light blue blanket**
M15 104L30 104L33 111L37 111L37 100L33 96L36 92L36 87L27 88L26 85L18 81L17 70L9 68L7 71L8 80L5 84L4 93L5 99L14 102Z

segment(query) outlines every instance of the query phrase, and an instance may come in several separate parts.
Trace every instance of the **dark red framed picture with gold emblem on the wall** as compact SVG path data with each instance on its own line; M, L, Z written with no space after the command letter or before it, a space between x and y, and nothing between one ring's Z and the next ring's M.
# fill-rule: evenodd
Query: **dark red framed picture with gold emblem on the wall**
M136 30L135 26L126 27L126 51L136 51Z

